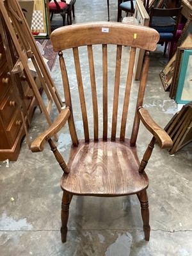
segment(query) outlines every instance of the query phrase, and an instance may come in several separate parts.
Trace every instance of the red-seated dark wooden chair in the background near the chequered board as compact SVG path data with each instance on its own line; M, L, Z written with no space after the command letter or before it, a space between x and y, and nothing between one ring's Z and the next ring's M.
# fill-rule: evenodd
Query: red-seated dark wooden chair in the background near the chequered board
M60 13L63 18L63 26L65 26L65 14L67 12L67 4L54 0L54 3L49 3L49 12L51 12L51 20L54 13Z

